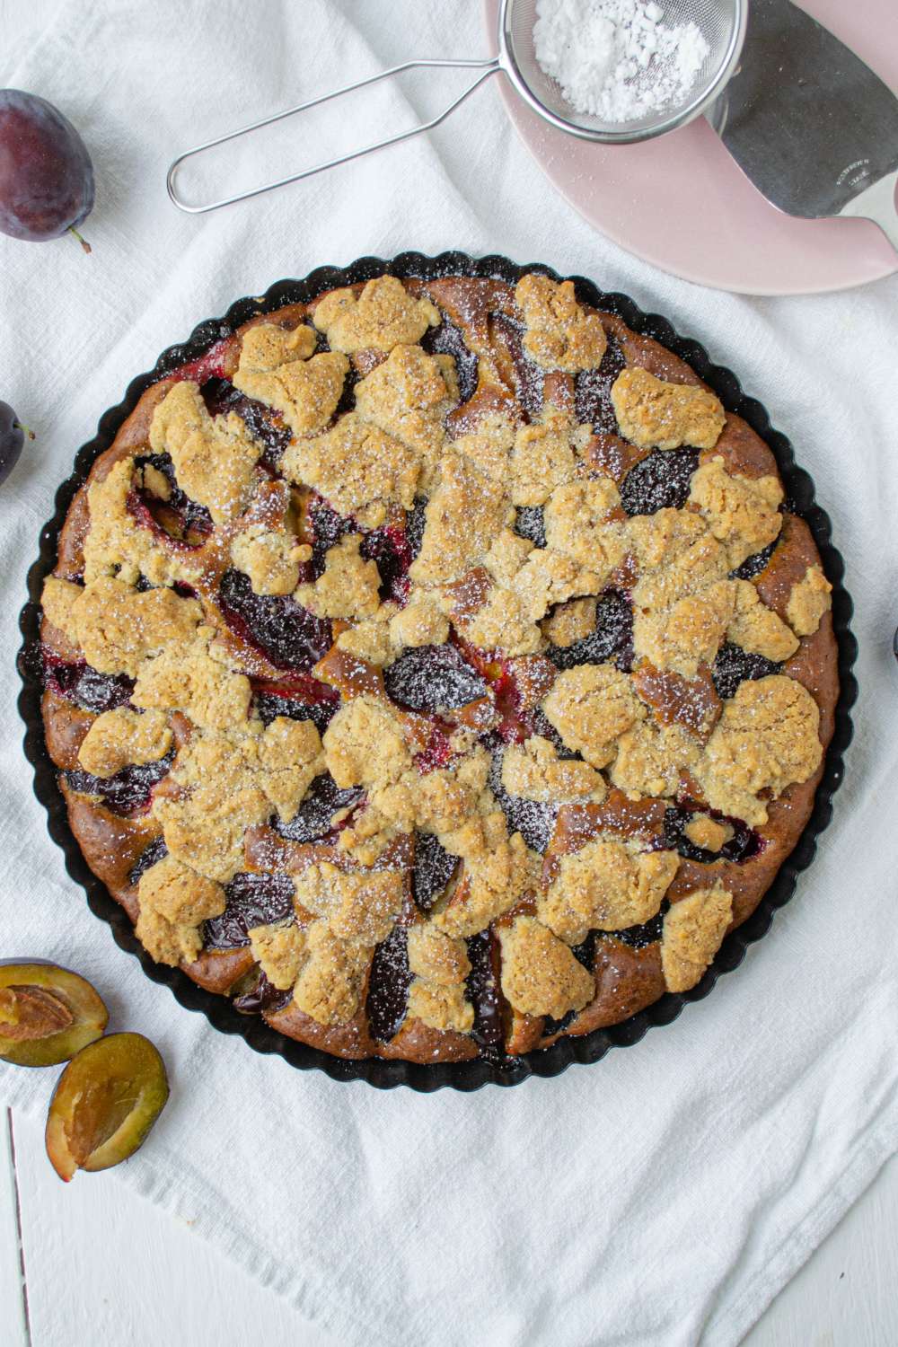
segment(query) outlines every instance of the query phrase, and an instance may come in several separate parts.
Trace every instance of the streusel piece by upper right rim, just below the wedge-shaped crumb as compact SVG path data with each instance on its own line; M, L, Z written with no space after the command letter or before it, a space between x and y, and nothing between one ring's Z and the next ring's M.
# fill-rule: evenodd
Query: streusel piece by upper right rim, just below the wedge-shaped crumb
M730 566L742 566L780 536L782 486L773 475L738 477L723 458L712 458L692 474L689 501L727 550Z

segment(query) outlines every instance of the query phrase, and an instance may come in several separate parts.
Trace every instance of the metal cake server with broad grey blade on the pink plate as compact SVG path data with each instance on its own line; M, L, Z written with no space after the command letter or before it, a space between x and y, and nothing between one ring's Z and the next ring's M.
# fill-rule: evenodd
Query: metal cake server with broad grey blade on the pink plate
M751 0L742 61L707 113L790 216L863 216L898 249L898 97L790 0Z

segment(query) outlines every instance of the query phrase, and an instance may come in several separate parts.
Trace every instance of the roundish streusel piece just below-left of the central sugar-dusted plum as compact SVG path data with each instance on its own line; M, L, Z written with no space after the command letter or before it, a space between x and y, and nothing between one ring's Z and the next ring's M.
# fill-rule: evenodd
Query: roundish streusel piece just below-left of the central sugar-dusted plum
M327 770L341 789L382 788L412 766L399 717L376 698L345 702L324 731Z

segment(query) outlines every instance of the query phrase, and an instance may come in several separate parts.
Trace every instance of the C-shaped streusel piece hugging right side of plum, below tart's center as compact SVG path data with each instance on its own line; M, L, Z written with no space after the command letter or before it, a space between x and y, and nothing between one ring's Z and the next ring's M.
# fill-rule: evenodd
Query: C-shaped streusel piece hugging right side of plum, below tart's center
M520 832L508 835L505 815L497 810L469 818L440 845L464 865L454 889L435 904L434 920L451 936L471 936L514 907L533 888L534 866Z

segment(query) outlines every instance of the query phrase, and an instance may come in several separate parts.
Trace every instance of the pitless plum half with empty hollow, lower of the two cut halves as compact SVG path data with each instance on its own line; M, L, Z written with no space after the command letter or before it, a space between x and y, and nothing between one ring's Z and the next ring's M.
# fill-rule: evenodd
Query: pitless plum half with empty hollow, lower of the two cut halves
M159 1051L140 1033L110 1033L83 1048L59 1076L46 1144L66 1183L133 1156L168 1099Z

